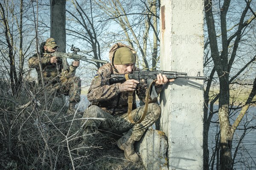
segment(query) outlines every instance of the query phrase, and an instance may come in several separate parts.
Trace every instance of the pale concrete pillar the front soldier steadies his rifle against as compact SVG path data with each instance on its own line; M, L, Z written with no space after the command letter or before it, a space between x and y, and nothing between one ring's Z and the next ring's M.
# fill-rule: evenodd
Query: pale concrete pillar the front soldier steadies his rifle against
M160 69L203 76L204 0L161 0ZM176 79L160 95L169 170L203 169L203 81Z

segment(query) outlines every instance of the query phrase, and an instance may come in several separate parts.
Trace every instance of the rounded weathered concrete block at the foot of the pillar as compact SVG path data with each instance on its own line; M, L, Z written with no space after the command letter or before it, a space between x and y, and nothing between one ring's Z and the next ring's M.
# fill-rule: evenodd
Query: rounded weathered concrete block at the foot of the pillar
M165 133L152 129L136 144L146 170L168 170L167 148Z

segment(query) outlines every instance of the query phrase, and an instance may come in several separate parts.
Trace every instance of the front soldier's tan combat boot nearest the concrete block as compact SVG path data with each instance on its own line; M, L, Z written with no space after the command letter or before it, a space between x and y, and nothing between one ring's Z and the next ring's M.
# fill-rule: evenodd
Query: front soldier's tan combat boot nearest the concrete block
M129 161L137 162L140 160L137 153L134 151L135 141L131 138L131 131L129 130L122 138L117 141L117 146L120 150L125 152L125 158Z

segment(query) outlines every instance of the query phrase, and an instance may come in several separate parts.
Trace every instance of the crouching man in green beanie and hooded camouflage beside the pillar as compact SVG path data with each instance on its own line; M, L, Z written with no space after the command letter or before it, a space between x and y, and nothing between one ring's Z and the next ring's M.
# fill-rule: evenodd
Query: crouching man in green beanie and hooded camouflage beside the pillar
M93 144L95 132L109 132L122 134L117 141L118 147L124 151L125 158L129 161L138 161L139 156L134 151L134 142L139 141L145 131L157 121L161 109L157 101L157 95L160 93L163 84L174 80L168 80L165 75L159 74L157 81L151 88L154 88L157 95L154 98L149 97L148 110L145 118L140 123L143 116L144 106L136 105L135 94L140 100L146 100L147 84L139 83L139 81L130 79L124 82L110 84L109 78L111 74L128 74L135 70L136 54L134 49L122 43L116 43L111 47L109 52L111 63L107 63L99 68L90 89L87 94L88 100L91 102L90 107L84 111L84 118L105 118L105 120L88 119L84 126L84 141L80 144L79 153L87 152ZM133 120L128 118L128 95L133 102L130 107L130 115Z

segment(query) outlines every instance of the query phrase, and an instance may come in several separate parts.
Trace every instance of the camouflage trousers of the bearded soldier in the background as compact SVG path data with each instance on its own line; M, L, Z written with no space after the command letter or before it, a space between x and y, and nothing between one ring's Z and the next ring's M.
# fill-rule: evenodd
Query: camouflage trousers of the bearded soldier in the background
M81 79L77 76L70 78L61 77L61 81L46 86L48 95L69 96L70 103L79 103L81 94Z

